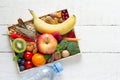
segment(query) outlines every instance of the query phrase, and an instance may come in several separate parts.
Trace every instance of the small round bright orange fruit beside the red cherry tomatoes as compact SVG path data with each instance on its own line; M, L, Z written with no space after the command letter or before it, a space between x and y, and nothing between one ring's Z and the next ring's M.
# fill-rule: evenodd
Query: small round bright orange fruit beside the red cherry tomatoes
M44 58L44 56L42 54L36 53L32 57L32 63L35 66L41 66L46 63L46 59Z

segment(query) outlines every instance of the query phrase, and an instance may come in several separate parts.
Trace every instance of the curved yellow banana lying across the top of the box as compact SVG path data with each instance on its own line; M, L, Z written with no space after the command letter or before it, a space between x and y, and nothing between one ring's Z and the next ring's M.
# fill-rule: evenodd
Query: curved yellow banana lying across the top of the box
M59 24L48 24L43 20L39 19L33 10L29 10L33 16L33 22L35 29L40 33L53 33L55 31L59 32L61 35L64 35L71 31L76 23L75 15L70 16L66 21Z

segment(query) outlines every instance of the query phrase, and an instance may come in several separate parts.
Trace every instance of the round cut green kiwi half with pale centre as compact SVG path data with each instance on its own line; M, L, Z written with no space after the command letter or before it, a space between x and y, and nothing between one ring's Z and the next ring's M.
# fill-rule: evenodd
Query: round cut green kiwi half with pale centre
M12 42L12 48L16 53L23 53L26 50L26 41L22 38L16 38Z

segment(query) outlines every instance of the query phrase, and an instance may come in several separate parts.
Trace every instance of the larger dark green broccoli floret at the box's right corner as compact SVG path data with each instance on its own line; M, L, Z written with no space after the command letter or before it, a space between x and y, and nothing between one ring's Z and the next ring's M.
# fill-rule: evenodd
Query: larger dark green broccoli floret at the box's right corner
M77 54L80 52L78 44L76 42L69 42L67 50L71 55Z

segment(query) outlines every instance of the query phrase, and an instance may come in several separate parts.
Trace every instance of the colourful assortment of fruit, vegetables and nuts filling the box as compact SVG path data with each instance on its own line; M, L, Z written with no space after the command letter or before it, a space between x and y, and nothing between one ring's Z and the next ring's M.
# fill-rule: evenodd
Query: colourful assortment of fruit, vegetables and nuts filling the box
M78 38L74 33L75 16L61 10L33 20L8 27L12 49L19 70L24 71L80 53Z

